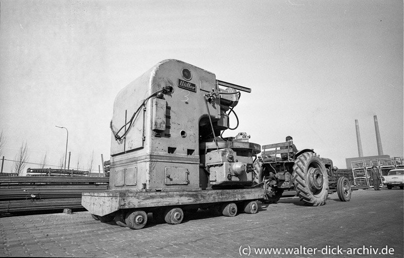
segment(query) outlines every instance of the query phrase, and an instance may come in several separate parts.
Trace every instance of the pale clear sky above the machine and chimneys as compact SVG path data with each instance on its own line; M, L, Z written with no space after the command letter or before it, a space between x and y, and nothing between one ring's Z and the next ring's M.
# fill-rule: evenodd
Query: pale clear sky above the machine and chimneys
M0 3L2 156L27 142L31 163L66 148L80 168L110 155L113 101L173 58L252 89L236 131L266 145L293 137L345 168L358 157L403 156L402 1L5 1ZM235 125L233 114L231 126ZM4 172L12 162L6 161ZM37 167L28 164L28 167ZM93 171L95 172L95 171Z

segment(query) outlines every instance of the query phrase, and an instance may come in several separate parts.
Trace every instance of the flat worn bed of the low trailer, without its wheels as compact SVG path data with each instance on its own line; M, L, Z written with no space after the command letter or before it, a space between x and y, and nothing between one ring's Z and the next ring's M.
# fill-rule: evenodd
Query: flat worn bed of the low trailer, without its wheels
M257 201L264 199L264 188L238 189L144 189L83 192L81 205L96 216L109 216L122 210L180 206L207 207L226 202Z

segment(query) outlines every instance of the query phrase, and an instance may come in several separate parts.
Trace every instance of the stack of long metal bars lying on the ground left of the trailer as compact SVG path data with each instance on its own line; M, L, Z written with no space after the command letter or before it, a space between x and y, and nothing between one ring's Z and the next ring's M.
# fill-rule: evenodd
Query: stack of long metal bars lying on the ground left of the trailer
M0 215L83 209L81 193L105 191L108 177L0 177Z

